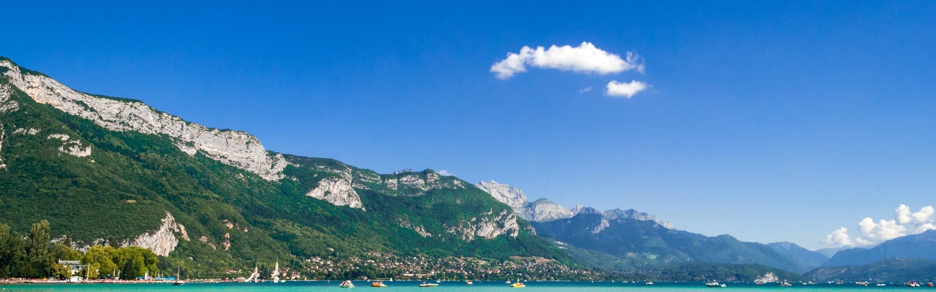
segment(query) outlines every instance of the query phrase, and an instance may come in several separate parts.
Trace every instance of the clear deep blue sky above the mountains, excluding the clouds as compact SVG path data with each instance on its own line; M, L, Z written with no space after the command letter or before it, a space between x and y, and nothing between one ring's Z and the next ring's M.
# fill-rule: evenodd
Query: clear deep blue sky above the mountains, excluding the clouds
M3 7L0 55L278 152L811 248L936 203L932 2ZM582 42L644 72L490 72ZM651 87L613 97L610 80Z

